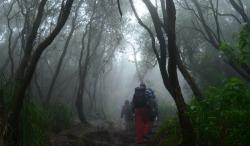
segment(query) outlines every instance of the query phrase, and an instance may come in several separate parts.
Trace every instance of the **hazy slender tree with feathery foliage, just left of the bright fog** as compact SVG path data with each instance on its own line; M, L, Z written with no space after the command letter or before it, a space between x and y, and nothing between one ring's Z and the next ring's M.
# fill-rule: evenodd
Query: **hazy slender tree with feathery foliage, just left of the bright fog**
M100 102L97 101L99 75L114 55L120 29L120 22L112 21L117 17L113 13L114 5L111 1L87 1L87 4L92 14L88 18L81 39L78 60L79 84L75 100L78 117L84 124L88 124L86 113L91 114L97 110L95 105Z

